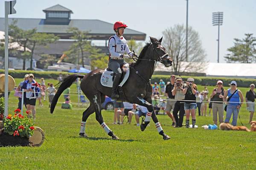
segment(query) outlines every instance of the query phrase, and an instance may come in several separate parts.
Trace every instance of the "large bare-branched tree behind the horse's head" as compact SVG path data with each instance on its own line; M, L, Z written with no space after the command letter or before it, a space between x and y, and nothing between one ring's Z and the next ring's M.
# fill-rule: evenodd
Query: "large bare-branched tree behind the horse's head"
M177 24L163 31L163 46L173 60L172 69L179 72L203 71L206 54L201 45L198 32L188 28L188 59L186 60L186 28ZM185 62L188 61L188 62Z

